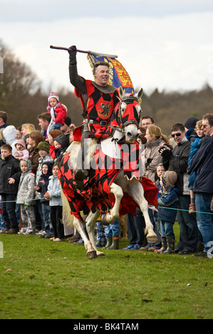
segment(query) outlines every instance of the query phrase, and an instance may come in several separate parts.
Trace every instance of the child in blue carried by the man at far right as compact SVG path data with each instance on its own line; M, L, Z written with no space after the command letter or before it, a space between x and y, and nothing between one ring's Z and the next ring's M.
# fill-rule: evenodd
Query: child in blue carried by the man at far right
M185 134L188 141L191 142L188 165L192 161L192 158L193 158L194 154L199 149L200 141L201 141L202 137L204 136L204 130L202 130L201 128L202 128L202 120L198 121L196 123L194 129L192 128L192 129L187 130L187 132ZM195 131L196 134L194 134L194 131ZM193 185L194 185L195 178L196 178L196 173L192 172L189 175L189 184L188 184L188 187L189 187L189 190L190 190L189 213L192 213L192 212L195 211L194 191L193 191Z

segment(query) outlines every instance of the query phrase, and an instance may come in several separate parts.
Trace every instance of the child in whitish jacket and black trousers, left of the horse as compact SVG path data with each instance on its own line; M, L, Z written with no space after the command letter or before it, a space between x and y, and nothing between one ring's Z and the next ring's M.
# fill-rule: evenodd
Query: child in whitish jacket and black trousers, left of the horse
M53 165L53 175L49 178L48 189L44 198L49 200L51 207L51 224L53 226L53 241L64 241L64 230L62 220L62 201L61 201L61 186L58 180L58 165Z

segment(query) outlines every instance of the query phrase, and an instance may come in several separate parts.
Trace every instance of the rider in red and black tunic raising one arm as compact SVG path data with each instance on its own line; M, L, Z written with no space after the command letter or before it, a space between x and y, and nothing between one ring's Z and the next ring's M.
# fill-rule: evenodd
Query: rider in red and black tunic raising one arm
M69 53L69 75L71 84L75 87L75 94L80 97L83 107L83 124L81 126L81 153L78 155L78 165L75 180L79 187L83 179L88 177L88 148L86 139L102 138L110 122L110 116L119 102L118 89L108 85L110 65L105 62L94 65L95 82L85 80L78 75L76 61L76 46L71 46ZM87 162L87 166L85 163Z

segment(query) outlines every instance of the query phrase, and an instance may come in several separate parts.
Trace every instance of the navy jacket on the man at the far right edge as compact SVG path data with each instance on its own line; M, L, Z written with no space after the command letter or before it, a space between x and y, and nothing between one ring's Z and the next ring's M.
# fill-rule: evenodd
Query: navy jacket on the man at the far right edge
M213 194L213 136L205 136L202 144L194 154L187 173L196 172L194 193Z

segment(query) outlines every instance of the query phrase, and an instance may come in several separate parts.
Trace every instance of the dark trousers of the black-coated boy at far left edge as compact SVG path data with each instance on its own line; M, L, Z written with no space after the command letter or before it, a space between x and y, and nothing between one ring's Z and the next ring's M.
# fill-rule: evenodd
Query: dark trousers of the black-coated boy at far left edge
M6 230L19 231L19 225L16 217L16 194L1 194L2 217Z

